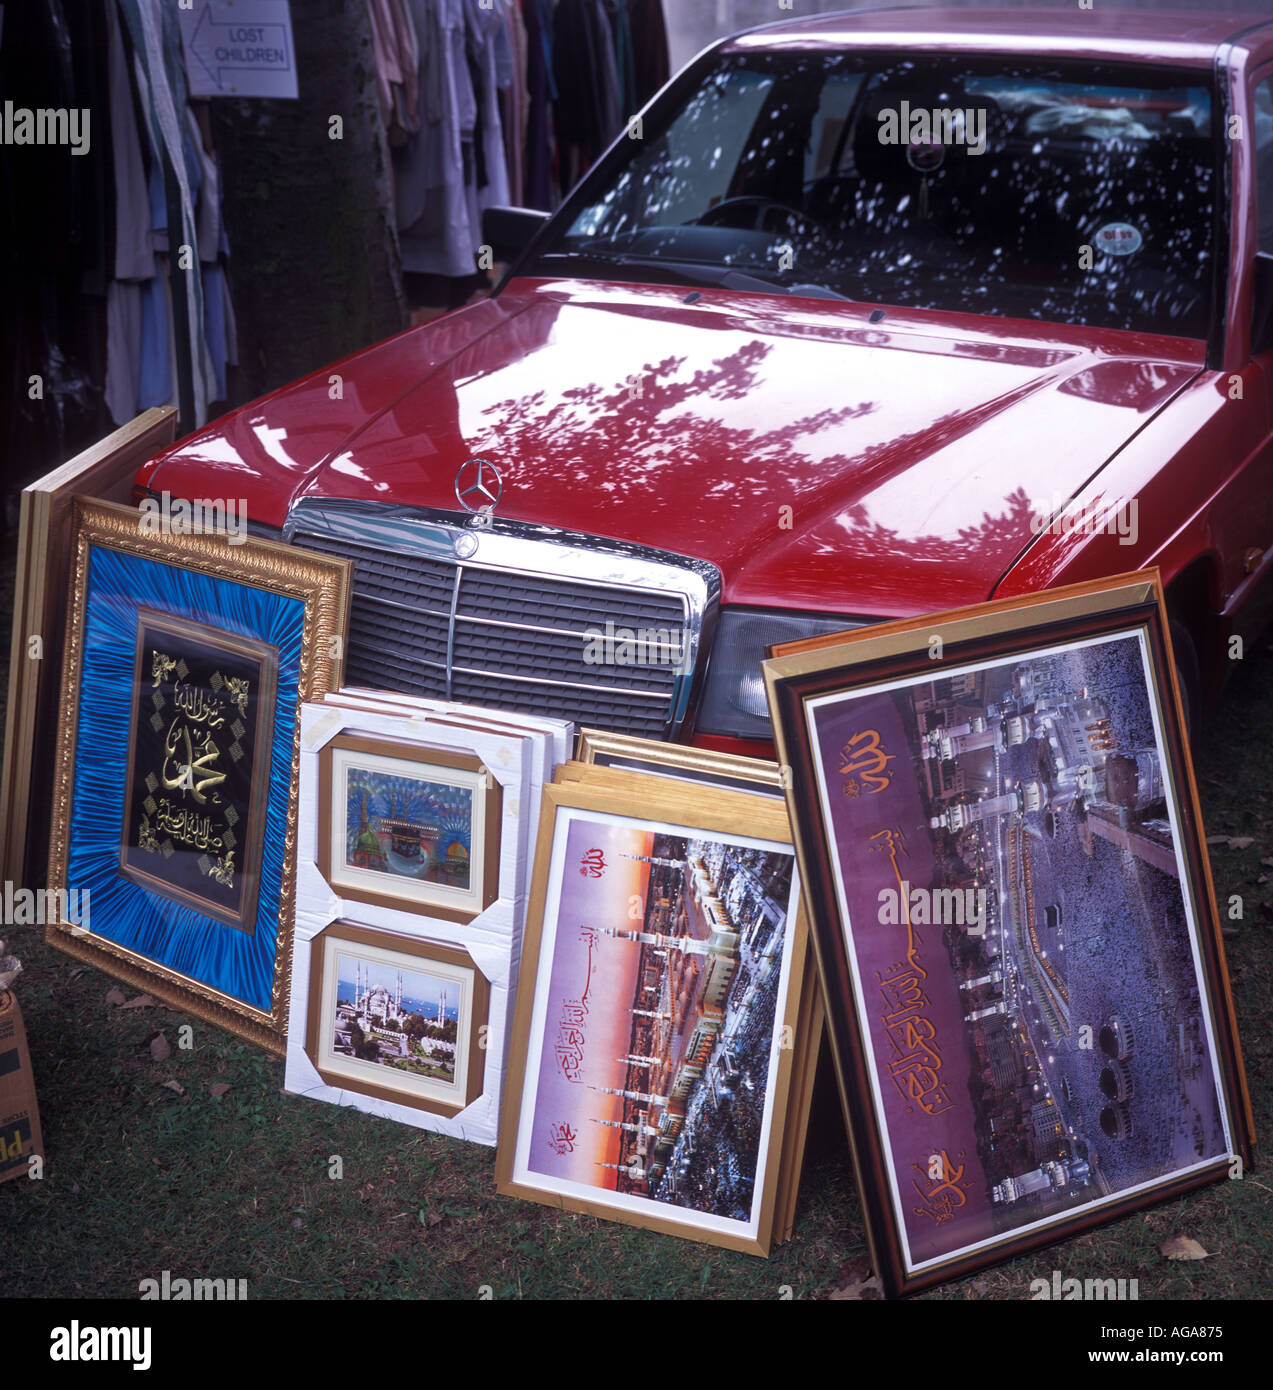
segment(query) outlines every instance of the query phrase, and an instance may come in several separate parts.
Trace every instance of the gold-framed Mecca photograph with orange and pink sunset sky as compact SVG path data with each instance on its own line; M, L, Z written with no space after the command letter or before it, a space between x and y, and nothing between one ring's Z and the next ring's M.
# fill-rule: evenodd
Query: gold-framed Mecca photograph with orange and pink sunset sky
M543 788L496 1186L764 1255L805 966L785 809L631 776Z

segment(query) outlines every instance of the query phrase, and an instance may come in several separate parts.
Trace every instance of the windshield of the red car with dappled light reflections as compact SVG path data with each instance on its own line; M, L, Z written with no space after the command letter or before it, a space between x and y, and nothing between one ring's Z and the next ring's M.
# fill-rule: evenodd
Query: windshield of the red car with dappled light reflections
M674 93L571 197L535 272L1208 334L1198 72L735 54Z

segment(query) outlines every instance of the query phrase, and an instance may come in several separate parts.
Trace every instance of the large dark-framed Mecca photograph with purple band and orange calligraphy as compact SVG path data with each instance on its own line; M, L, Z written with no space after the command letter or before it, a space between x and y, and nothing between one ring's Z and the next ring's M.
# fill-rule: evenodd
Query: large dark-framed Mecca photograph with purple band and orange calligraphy
M1251 1162L1156 573L764 664L888 1294Z

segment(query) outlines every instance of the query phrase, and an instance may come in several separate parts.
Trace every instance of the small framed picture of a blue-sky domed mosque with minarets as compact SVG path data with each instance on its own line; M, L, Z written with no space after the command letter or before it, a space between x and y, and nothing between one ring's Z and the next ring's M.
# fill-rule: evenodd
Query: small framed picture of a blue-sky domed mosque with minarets
M456 1115L482 1091L489 1009L461 947L352 922L311 942L306 1052L328 1086Z

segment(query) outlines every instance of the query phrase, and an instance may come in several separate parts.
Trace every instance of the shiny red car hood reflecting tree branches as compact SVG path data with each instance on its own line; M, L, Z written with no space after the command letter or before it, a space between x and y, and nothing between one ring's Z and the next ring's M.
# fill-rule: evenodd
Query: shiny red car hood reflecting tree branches
M149 477L249 514L302 498L496 517L713 562L732 603L931 612L989 596L1051 517L1202 367L1204 345L845 302L578 281L338 363ZM1115 503L1122 499L1109 499Z

